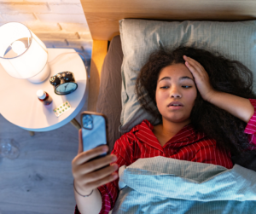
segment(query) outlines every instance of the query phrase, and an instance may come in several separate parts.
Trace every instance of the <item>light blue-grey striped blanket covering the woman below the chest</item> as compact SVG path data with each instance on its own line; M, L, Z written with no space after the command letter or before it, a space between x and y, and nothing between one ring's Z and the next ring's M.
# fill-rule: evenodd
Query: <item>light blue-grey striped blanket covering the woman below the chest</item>
M256 172L157 156L119 168L115 213L256 213Z

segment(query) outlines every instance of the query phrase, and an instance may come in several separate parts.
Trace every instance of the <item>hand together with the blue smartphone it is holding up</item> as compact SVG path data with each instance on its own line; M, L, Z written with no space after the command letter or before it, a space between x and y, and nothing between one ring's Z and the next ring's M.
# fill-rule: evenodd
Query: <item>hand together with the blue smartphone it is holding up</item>
M81 125L79 152L72 161L73 177L80 194L90 194L92 189L118 178L115 172L118 165L110 165L116 156L102 150L109 149L107 117L102 113L83 112Z

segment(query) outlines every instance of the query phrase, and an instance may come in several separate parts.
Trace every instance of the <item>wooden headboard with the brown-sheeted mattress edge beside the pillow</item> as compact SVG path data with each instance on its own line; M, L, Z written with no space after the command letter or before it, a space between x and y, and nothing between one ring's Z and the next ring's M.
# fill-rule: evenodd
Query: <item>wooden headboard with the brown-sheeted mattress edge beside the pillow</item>
M81 0L84 15L93 38L90 82L97 90L90 90L89 110L104 112L102 103L111 107L113 117L109 117L110 147L122 134L119 132L121 103L121 74L123 51L119 38L119 20L209 20L229 21L256 20L256 3L252 1L90 1ZM114 38L114 39L113 39ZM111 41L113 42L111 47ZM108 54L108 55L107 55ZM104 62L105 60L105 62ZM104 64L105 63L105 64ZM253 67L254 68L254 67ZM112 93L103 94L104 91ZM119 94L118 94L119 93ZM105 97L105 98L104 98ZM113 119L113 121L112 121Z

